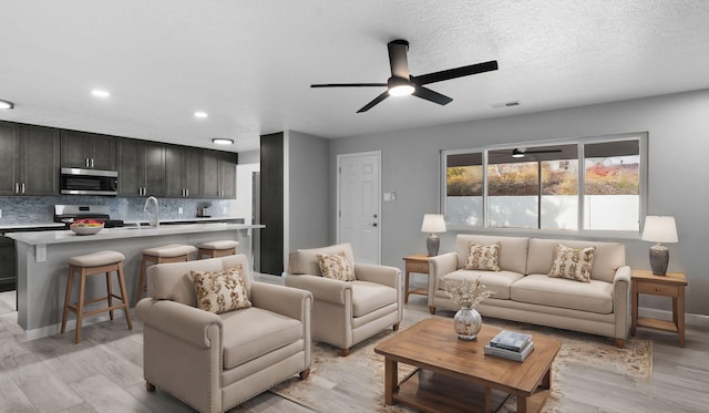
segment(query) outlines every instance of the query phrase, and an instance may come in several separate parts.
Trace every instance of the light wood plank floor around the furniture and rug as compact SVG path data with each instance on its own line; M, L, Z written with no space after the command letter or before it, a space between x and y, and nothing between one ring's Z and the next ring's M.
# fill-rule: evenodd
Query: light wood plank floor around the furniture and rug
M425 297L411 296L404 317L420 319L425 313ZM638 337L654 341L653 379L638 383L617 374L578 371L573 379L584 383L585 391L564 394L573 413L706 412L709 330L689 328L684 349L674 334L640 329ZM88 326L79 345L72 333L28 342L17 324L14 293L0 293L0 412L192 412L160 390L145 391L142 358L137 320L132 332L122 319ZM266 392L232 412L310 411Z

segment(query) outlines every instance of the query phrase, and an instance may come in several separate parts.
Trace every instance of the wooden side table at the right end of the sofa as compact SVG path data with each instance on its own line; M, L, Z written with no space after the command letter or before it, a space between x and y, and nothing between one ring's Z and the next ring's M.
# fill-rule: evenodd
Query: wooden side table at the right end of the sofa
M635 335L638 327L676 332L679 334L679 347L685 347L685 287L687 287L687 278L682 272L656 276L648 270L633 270L630 335ZM638 296L641 293L671 297L672 321L638 317Z

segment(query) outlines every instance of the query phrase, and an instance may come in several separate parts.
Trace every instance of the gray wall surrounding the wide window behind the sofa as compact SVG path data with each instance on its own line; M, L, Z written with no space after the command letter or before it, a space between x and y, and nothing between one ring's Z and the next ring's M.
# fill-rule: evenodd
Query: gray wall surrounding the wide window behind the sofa
M698 91L332 140L328 174L330 205L336 205L337 155L381 151L382 192L397 192L395 200L382 203L382 264L402 268L402 257L425 251L425 234L419 229L424 213L439 210L441 149L648 132L647 210L650 215L676 217L679 242L667 245L669 270L687 273L687 311L706 316L709 313L706 299L709 293L709 189L706 178L709 162L705 155L709 153L708 109L709 91ZM330 208L330 241L336 238L335 221L335 210ZM441 251L453 249L454 237L451 231L441 236ZM627 247L628 265L648 269L650 242L639 238L638 235L635 239L619 240ZM670 308L668 301L644 296L640 306L667 310Z

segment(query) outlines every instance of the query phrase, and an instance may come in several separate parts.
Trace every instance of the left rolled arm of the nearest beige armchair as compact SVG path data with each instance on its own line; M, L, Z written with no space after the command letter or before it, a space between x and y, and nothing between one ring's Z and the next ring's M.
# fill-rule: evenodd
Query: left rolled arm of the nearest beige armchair
M201 349L212 347L208 329L213 326L222 337L219 316L171 300L146 298L135 306L135 316L145 326L163 331Z

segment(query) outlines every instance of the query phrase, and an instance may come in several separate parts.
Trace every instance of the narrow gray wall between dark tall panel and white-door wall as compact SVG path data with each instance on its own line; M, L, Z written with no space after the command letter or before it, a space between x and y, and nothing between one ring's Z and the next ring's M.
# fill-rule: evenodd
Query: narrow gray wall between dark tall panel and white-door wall
M286 259L288 251L328 245L329 144L322 137L287 133Z

